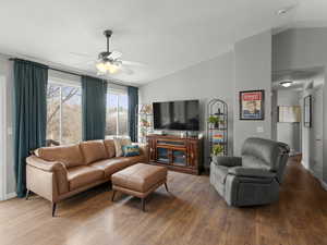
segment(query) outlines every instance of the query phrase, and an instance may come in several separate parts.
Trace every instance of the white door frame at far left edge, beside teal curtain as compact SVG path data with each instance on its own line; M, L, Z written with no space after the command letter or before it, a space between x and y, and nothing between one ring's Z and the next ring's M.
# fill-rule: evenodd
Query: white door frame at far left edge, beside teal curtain
M5 77L0 76L0 200L7 199L7 97Z

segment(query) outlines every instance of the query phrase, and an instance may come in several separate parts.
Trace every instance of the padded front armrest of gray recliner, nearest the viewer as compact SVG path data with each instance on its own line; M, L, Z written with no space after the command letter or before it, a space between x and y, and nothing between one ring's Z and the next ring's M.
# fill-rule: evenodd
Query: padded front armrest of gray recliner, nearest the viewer
M266 169L255 169L255 168L244 168L235 167L228 170L229 174L244 177L263 177L263 179L272 179L276 177L276 173L270 172Z

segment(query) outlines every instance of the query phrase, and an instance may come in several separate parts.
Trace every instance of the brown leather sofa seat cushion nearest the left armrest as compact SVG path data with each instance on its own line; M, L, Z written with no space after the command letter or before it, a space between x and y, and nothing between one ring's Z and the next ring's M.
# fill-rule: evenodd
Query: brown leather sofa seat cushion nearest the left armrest
M70 191L100 181L105 177L102 170L89 166L80 166L68 170Z

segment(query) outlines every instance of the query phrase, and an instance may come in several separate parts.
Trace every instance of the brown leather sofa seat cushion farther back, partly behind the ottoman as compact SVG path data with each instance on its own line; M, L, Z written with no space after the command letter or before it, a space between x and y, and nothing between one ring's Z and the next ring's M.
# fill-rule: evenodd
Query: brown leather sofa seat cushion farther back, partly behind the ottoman
M105 176L109 177L111 174L128 168L132 164L135 164L137 162L141 162L144 160L144 157L136 156L136 157L119 157L119 158L111 158L111 159L106 159L101 161L97 161L92 163L90 166L97 169L100 169L105 171Z

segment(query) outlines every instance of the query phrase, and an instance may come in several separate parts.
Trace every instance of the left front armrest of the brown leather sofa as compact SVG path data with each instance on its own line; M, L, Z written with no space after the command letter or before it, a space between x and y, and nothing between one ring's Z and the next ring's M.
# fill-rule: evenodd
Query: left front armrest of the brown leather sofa
M69 192L68 171L63 163L45 161L36 156L26 158L27 188L57 201L61 194Z

